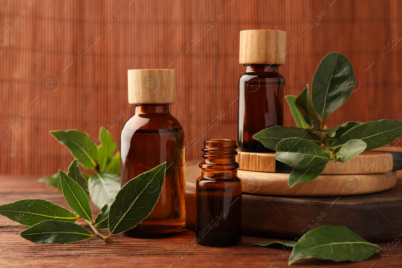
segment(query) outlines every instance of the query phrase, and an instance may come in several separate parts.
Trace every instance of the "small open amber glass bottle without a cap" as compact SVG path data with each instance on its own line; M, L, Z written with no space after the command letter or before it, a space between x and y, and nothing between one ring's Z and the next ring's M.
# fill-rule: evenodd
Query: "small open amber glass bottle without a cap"
M242 239L242 182L237 177L236 141L204 141L201 177L196 183L196 241L236 245Z

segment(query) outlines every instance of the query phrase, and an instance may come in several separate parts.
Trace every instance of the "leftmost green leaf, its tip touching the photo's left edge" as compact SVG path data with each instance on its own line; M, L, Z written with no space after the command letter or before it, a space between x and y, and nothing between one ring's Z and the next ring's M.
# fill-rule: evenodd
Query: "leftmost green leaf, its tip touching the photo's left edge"
M32 226L46 220L73 223L77 219L77 216L68 209L44 199L23 199L1 205L0 214L26 226Z

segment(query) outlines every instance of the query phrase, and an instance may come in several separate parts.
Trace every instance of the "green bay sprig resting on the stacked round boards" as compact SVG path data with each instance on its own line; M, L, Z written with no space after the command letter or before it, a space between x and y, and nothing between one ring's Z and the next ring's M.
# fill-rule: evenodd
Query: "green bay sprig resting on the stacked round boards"
M327 117L351 95L355 74L349 59L338 52L326 55L299 96L286 96L297 127L273 126L253 138L272 150L275 158L293 167L288 185L314 180L330 162L346 162L365 150L386 145L402 135L402 120L346 122L332 128Z

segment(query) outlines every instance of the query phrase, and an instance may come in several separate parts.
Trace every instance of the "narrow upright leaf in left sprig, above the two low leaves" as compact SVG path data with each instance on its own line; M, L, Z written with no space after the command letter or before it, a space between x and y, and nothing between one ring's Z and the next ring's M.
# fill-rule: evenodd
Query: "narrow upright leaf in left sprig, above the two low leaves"
M62 192L67 204L83 219L92 223L92 210L84 190L62 170L59 170L59 176L60 183L62 184Z

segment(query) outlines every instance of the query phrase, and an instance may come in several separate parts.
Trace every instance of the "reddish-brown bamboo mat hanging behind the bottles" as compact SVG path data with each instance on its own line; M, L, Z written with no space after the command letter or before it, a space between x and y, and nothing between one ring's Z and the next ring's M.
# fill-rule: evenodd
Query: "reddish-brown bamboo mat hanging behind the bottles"
M327 53L349 58L355 92L330 115L329 127L402 119L402 41L389 51L384 47L402 37L398 0L31 1L0 1L0 27L6 27L0 37L0 129L14 124L0 135L1 174L47 175L65 169L72 156L50 130L79 129L92 138L100 126L110 124L118 141L133 113L127 102L128 69L176 69L177 102L171 111L188 142L201 138L186 160L199 160L203 139L236 139L237 83L244 72L238 63L239 31L245 29L284 30L289 43L300 37L288 47L286 65L280 68L286 94L297 95L311 85ZM20 10L23 15L15 20ZM112 22L119 12L123 15ZM101 34L108 23L117 24ZM208 23L213 26L201 35ZM315 25L303 35L309 23ZM98 41L84 51L82 46L95 36ZM183 50L195 36L199 41ZM53 88L45 86L48 76ZM55 79L58 87L49 92L56 88ZM11 121L20 111L23 116ZM199 132L221 111L218 125L201 137ZM119 113L124 115L113 121ZM295 125L288 107L285 117L285 125Z

